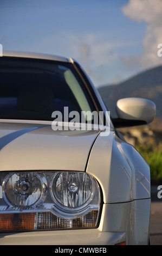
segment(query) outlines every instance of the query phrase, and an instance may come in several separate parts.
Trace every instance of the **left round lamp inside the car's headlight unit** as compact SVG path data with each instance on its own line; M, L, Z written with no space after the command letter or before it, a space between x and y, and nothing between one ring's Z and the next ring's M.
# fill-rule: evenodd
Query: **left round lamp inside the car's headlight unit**
M29 206L38 202L42 194L42 184L35 173L15 173L5 182L5 197L10 204Z

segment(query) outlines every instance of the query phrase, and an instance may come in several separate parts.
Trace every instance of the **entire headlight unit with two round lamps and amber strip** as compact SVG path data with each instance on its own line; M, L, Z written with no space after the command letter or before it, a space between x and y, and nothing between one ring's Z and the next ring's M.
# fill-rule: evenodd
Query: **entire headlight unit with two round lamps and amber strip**
M0 231L96 228L101 195L85 172L0 172Z

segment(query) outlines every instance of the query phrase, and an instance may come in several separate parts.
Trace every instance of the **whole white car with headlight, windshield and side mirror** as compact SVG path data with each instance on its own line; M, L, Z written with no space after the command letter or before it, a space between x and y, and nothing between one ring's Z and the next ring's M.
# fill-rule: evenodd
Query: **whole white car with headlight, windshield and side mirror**
M0 245L147 245L150 167L116 128L154 103L113 119L75 60L46 54L4 52L0 78Z

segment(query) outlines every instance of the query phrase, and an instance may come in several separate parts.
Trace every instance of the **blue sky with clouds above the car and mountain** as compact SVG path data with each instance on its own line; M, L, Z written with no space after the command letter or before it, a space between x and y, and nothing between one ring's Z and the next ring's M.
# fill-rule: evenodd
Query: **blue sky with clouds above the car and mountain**
M96 87L117 83L162 64L161 0L140 1L1 0L0 44L73 57Z

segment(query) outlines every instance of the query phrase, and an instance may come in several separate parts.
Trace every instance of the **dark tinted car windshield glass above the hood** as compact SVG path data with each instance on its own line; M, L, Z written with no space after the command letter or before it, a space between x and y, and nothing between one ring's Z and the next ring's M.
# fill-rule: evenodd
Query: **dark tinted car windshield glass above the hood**
M0 77L0 119L53 120L54 111L64 117L64 107L94 110L70 63L2 57Z

